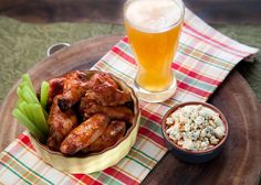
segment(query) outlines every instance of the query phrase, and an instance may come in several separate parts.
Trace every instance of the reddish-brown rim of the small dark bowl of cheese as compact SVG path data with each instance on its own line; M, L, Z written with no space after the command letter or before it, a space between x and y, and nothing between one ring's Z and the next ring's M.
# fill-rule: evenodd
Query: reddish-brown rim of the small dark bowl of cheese
M178 108L181 108L181 107L185 107L185 106L197 106L197 105L202 105L207 108L210 108L211 110L213 110L215 112L217 112L219 115L219 117L221 118L223 124L225 124L225 128L226 128L226 132L225 132L225 137L222 138L222 140L217 144L215 145L213 148L211 149L208 149L208 150L202 150L202 151L192 151L192 150L186 150L186 149L182 149L181 146L177 145L174 143L174 141L171 141L168 137L168 134L166 133L166 120L167 118L173 113L175 112ZM227 141L228 139L228 135L229 135L229 124L228 124L228 121L226 119L226 117L223 116L223 113L218 109L216 108L215 106L208 104L208 102L200 102L200 101L186 101L186 102L180 102L174 107L171 107L164 116L163 120L161 120L161 131L163 131L163 135L165 138L165 140L173 146L175 148L176 150L179 150L179 151L182 151L185 153L188 153L188 154L207 154L207 153L211 153L213 152L215 150L217 150L218 148L220 148L221 145L225 144L225 142Z

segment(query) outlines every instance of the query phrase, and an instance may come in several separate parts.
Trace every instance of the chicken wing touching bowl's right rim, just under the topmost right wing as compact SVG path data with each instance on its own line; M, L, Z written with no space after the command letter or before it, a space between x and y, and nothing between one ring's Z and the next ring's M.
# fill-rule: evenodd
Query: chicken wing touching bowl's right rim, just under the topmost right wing
M86 97L83 97L81 99L80 112L83 115L84 118L88 118L94 113L104 113L104 115L107 115L111 119L124 120L129 123L133 122L133 117L134 117L133 111L127 107L100 106L95 101L88 101Z

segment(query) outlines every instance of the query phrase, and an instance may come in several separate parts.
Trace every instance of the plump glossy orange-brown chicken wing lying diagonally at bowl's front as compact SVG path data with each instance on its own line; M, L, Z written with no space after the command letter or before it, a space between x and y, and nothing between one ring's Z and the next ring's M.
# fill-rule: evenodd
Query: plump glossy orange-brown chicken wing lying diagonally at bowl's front
M60 151L64 154L74 154L91 145L105 131L109 119L96 113L81 123L63 140Z

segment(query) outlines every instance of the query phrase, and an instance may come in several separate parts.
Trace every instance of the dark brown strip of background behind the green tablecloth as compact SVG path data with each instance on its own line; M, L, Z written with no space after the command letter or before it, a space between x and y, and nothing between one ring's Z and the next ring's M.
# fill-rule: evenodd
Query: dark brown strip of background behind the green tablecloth
M0 0L0 14L27 22L122 23L124 0ZM261 23L261 0L184 0L208 23Z

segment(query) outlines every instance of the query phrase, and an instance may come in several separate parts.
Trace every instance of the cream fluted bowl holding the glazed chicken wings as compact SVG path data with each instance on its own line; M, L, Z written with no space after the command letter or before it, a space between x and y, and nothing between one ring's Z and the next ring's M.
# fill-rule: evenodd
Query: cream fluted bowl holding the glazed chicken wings
M87 75L92 76L98 70L84 70ZM64 155L61 152L51 151L46 145L40 143L32 134L29 138L35 149L38 155L48 164L53 167L65 171L69 173L93 173L105 170L118 163L134 145L137 131L139 127L140 112L138 108L138 99L134 90L127 86L123 80L112 75L114 80L119 85L122 90L130 94L133 99L134 121L128 128L125 137L117 141L113 146L105 149L98 153L91 153L87 155Z

